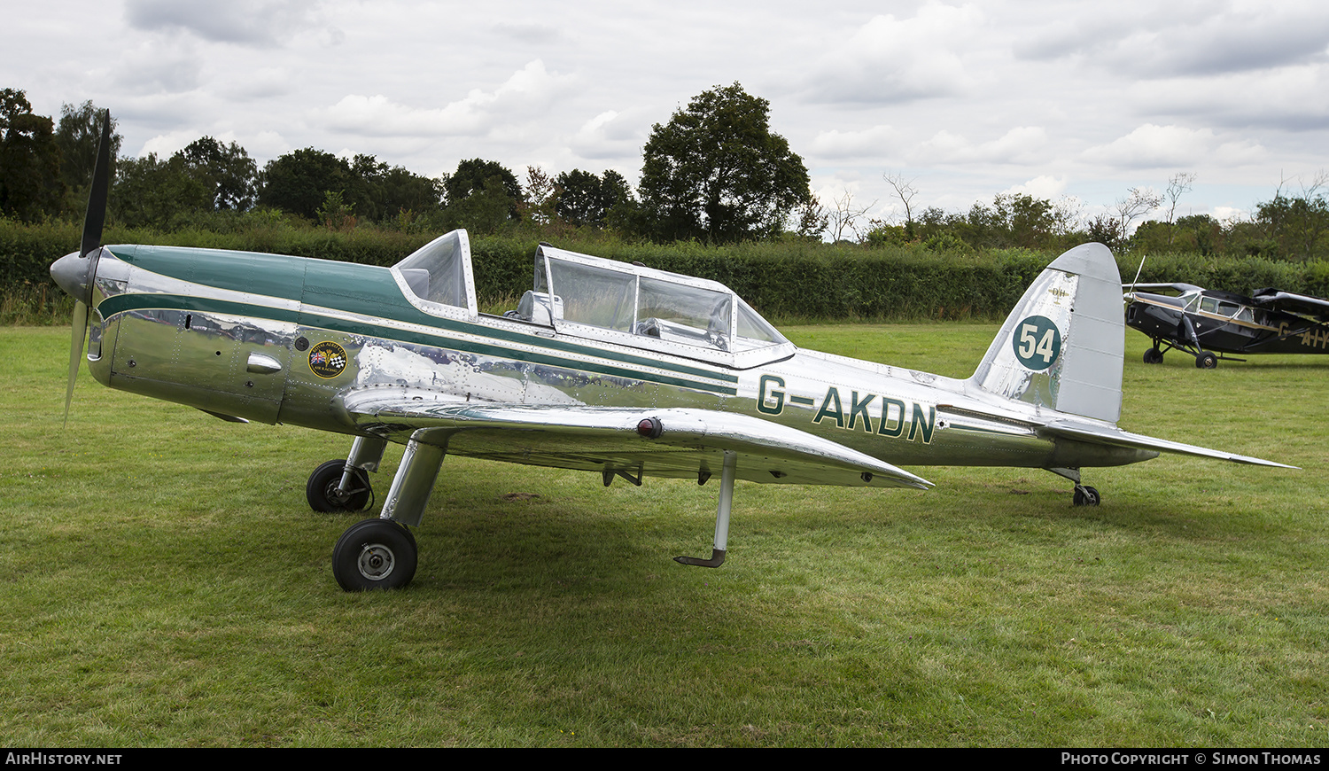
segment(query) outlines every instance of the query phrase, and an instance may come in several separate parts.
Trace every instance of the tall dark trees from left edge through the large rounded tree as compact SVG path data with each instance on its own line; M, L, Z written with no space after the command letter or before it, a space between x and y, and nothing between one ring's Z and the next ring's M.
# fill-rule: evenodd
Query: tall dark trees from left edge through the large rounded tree
M525 181L469 158L436 178L373 156L315 148L259 167L235 142L201 137L170 157L120 154L108 215L129 227L226 229L294 218L336 230L361 225L494 234L521 227L613 230L650 241L730 243L780 237L812 203L803 160L769 130L769 102L739 84L708 90L654 126L634 191L622 174L573 169ZM82 214L101 110L64 105L58 124L23 90L0 90L0 214L21 222ZM813 235L807 233L807 235Z

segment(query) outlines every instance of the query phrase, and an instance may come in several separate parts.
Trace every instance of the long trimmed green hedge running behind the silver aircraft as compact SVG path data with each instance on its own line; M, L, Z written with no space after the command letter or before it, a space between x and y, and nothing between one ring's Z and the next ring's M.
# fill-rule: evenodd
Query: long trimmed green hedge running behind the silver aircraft
M70 223L20 225L0 219L0 279L7 295L53 288L51 262L78 247ZM268 251L389 266L429 235L360 229L348 233L260 226L239 233L186 230L162 234L109 227L106 243L154 243ZM533 237L473 238L476 290L482 303L513 299L530 288ZM631 245L610 238L573 239L558 246L723 282L763 314L777 319L1001 319L1029 282L1055 257L1027 250L979 254L933 253L918 245L865 249L808 242L708 247ZM1126 280L1135 258L1118 258ZM1276 286L1329 295L1329 263L1195 254L1151 257L1140 280L1184 280L1249 292Z

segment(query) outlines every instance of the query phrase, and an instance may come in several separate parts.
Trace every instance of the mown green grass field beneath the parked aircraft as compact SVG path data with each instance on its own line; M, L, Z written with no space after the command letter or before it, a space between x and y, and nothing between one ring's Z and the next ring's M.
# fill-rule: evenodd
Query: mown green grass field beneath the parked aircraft
M968 375L995 326L801 346ZM0 328L11 746L1329 746L1329 358L1146 367L1122 425L1302 467L913 468L718 485L449 457L404 592L346 594L311 513L344 437L102 388ZM375 479L387 491L400 448Z

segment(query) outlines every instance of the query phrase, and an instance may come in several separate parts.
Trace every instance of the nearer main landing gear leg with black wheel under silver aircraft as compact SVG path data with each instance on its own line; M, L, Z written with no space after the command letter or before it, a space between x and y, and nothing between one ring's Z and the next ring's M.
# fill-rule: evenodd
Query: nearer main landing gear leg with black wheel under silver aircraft
M400 589L411 582L419 548L407 526L420 525L443 455L441 447L411 439L383 513L351 525L332 549L332 576L342 589Z

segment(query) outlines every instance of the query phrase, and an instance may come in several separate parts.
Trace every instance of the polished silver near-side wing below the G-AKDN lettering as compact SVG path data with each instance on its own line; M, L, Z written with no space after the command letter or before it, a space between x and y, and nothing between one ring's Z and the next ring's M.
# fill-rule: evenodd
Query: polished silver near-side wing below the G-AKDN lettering
M466 403L401 389L354 393L346 408L358 428L376 436L415 437L451 455L509 463L702 479L720 472L726 452L736 452L738 479L755 483L932 485L805 431L714 409ZM639 429L653 419L654 439Z

